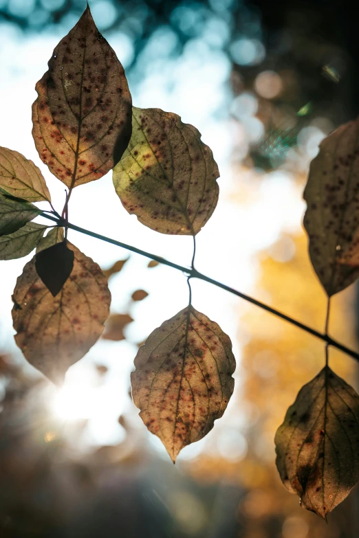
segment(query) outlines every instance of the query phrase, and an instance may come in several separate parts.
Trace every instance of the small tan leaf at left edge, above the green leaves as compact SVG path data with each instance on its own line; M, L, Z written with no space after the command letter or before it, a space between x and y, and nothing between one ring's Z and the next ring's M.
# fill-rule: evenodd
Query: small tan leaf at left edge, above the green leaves
M39 168L21 153L1 147L0 191L29 202L51 201Z

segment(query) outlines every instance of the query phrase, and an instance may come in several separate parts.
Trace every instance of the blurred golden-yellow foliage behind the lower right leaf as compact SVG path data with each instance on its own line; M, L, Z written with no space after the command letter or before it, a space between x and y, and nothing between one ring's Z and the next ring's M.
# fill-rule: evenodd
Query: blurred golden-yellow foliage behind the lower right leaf
M307 255L307 238L283 235L269 251L259 254L261 276L256 296L294 319L323 330L327 298ZM354 335L353 287L334 297L330 334L349 346ZM243 325L246 327L243 331ZM298 499L287 493L274 464L274 434L299 389L323 368L324 345L302 330L265 311L250 308L241 316L239 339L243 348L236 409L246 415L246 456L235 462L210 458L206 453L191 466L198 480L240 484L246 493L237 506L243 538L346 538L358 530L353 508L356 496L345 500L329 525L298 509ZM349 357L330 350L334 371L354 384L357 368ZM354 378L354 382L353 382ZM242 392L242 394L239 394ZM287 529L287 530L286 530Z

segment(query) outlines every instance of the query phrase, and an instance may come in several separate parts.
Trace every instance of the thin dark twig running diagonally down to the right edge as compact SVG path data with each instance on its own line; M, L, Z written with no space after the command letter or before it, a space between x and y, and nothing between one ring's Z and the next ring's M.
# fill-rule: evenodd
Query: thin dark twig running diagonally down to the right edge
M214 286L217 286L221 289L229 291L230 293L233 293L233 295L237 295L237 297L240 297L241 299L244 299L245 301L255 304L256 306L259 306L259 308L267 312L270 312L271 314L274 314L277 317L280 317L281 320L285 320L286 322L289 322L292 325L305 330L310 335L313 335L316 338L319 338L320 340L325 341L327 346L333 346L334 348L346 353L347 355L349 355L350 357L352 357L353 359L359 362L359 353L347 348L347 346L343 346L338 341L329 337L327 333L320 333L318 330L315 330L301 322L298 322L294 320L292 317L287 316L279 312L276 309L272 309L271 306L268 306L267 304L264 304L261 301L257 301L257 299L254 299L250 297L249 295L246 295L245 293L241 293L241 291L237 291L236 289L226 286L226 284L221 284L221 282L218 282L217 280L213 280L213 278L210 278L209 276L199 273L197 269L184 267L183 265L178 265L177 263L170 262L169 260L166 260L165 258L161 258L161 256L156 256L155 254L151 254L150 252L137 249L136 247L132 247L131 245L127 245L126 243L121 243L121 241L117 241L116 239L111 239L109 237L96 234L96 232L90 232L88 229L81 228L80 226L76 226L72 223L67 223L63 218L59 219L59 218L56 218L55 216L52 216L51 214L46 214L46 213L43 213L42 216L46 218L50 218L51 221L56 222L59 226L66 225L69 229L73 229L75 232L80 232L81 234L85 234L87 236L100 239L102 241L105 241L106 243L110 243L111 245L116 245L117 247L121 247L122 249L135 252L135 254L140 254L140 256L145 256L146 258L155 260L156 262L162 263L163 265L168 265L168 267L173 267L173 269L177 269L177 271L182 271L182 273L185 273L189 278L198 278L199 280L204 280L204 282L209 282L210 284L213 284ZM326 330L327 330L327 323L326 323Z

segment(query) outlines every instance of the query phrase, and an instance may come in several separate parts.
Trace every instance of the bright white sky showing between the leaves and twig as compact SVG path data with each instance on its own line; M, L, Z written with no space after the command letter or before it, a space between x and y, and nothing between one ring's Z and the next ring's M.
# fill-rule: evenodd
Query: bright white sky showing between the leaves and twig
M60 181L52 177L37 155L31 135L31 105L36 98L36 80L47 70L47 60L54 46L74 22L76 21L68 21L66 27L58 29L57 35L52 32L51 35L32 37L23 37L18 30L8 25L0 27L0 146L18 150L41 168L58 210L63 207L65 188ZM220 34L218 30L217 33L221 38L223 32ZM122 34L107 35L106 32L105 36L126 67L133 54L129 38ZM245 174L242 171L239 174L238 169L231 165L230 156L235 148L238 150L239 141L239 149L245 155L248 135L252 133L254 139L260 137L261 125L259 120L254 118L254 96L250 96L254 108L250 108L250 101L248 107L245 107L247 123L243 121L241 132L238 132L238 128L228 119L230 90L227 80L230 61L221 49L213 48L213 44L208 43L210 38L213 38L213 31L204 29L202 38L189 41L182 56L171 60L163 51L171 49L175 37L168 29L159 29L157 36L140 58L140 65L143 66L141 81L133 82L131 86L130 79L130 90L133 104L138 107L159 107L178 113L184 122L199 128L202 139L212 148L221 172L220 197L215 213L197 236L196 266L199 271L231 287L255 294L256 252L274 243L283 229L287 232L298 230L303 203L301 192L294 186L294 182L290 181L288 172L272 172L271 177L262 183L261 173L254 171ZM244 45L248 49L248 43ZM259 47L258 43L256 47ZM251 48L248 50L250 54L254 54ZM258 54L264 54L263 46L258 50ZM218 113L221 110L223 112ZM242 205L241 192L247 193L251 182L255 196L252 196L246 205ZM127 214L113 189L111 173L99 181L74 190L69 219L72 223L151 251L179 264L188 265L191 260L191 237L157 234L138 223L135 216ZM71 230L69 240L105 268L114 261L127 257L127 251ZM25 360L12 338L14 330L10 314L11 294L17 276L21 274L25 261L31 256L1 262L0 350L11 350L23 363ZM129 298L135 289L143 288L149 292L146 300L131 304L130 314L135 322L127 328L126 335L130 341L145 339L164 320L183 309L188 300L186 279L181 273L164 266L146 269L148 261L146 258L131 255L131 260L120 275L111 280L113 312L127 311ZM237 331L241 308L245 305L210 284L195 281L192 287L195 308L219 323L230 335L235 355L240 360ZM81 446L86 447L114 444L121 440L123 431L117 418L124 410L131 409L127 392L136 352L137 347L128 341L99 341L84 359L70 368L65 387L60 394L54 398L55 391L49 388L46 405L52 406L57 416L66 419L89 418L83 438L79 441L76 437L76 443L80 442ZM109 367L103 383L96 381L94 363ZM28 369L34 372L32 367L28 366ZM240 390L240 367L237 367L236 379L235 390ZM219 436L218 447L221 449L221 446L224 446L224 451L226 447L232 447L230 453L233 453L233 447L240 449L243 440L238 437L240 434L235 428L238 420L231 414L230 406L222 421L221 426L219 423L215 426L217 433L223 430L222 437ZM142 427L140 418L138 423ZM193 447L187 447L180 457L191 457L204 447L204 443L210 445L212 436L213 432ZM151 442L164 453L164 448L154 436L151 436Z

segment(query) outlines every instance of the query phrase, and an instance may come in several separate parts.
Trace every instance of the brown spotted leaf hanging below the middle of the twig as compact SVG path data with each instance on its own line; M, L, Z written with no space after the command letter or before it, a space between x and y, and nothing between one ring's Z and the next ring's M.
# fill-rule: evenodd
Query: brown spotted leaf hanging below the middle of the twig
M235 383L230 338L206 315L188 308L153 330L131 374L142 421L173 462L224 414Z

